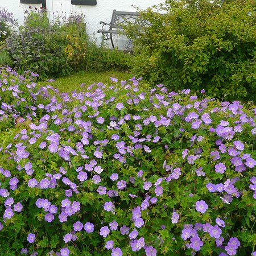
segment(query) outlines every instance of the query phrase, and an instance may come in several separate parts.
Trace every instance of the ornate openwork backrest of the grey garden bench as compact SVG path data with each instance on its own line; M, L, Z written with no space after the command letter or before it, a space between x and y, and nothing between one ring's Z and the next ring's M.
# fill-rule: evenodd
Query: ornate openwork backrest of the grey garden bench
M113 10L110 28L121 29L129 23L139 24L141 27L146 26L147 22L138 19L139 13L131 11L117 11Z

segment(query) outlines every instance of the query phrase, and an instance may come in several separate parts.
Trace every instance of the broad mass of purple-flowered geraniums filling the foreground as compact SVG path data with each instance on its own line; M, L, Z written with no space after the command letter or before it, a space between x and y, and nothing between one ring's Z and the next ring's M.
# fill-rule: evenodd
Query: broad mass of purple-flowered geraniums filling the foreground
M255 108L0 76L0 255L256 254Z

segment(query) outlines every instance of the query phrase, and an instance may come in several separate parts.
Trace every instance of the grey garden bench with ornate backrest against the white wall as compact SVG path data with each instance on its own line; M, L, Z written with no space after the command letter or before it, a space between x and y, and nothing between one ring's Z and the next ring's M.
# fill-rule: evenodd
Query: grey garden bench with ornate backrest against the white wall
M147 20L141 20L139 19L139 13L131 12L131 11L117 11L113 10L112 18L110 23L106 23L101 21L100 24L102 24L101 30L98 30L98 33L102 34L102 42L103 40L109 40L111 41L113 49L114 42L112 35L113 34L123 34L125 35L125 31L123 30L123 27L125 27L128 24L139 24L140 27L144 27L148 25ZM108 29L105 29L105 26L109 26Z

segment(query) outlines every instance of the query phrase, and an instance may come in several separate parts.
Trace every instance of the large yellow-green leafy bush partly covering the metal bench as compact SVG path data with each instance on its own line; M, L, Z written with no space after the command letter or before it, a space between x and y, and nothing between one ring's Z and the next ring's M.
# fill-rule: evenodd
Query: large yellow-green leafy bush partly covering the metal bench
M256 101L255 10L253 0L167 0L142 12L151 26L127 30L139 53L133 72L170 89Z

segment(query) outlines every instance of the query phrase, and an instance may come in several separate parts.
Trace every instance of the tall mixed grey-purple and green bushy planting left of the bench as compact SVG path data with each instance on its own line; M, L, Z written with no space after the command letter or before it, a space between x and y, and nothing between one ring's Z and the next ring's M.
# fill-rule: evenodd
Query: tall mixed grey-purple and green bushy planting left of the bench
M72 14L50 24L44 9L31 9L24 26L7 39L7 51L19 73L31 70L45 79L81 68L87 39L83 16Z

